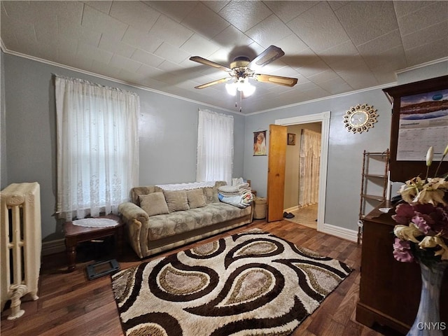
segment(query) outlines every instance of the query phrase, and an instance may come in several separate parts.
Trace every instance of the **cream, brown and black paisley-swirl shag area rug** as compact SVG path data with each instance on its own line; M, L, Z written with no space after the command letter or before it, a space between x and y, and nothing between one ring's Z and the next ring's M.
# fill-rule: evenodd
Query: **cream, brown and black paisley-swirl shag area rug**
M290 335L351 272L259 229L113 274L126 335Z

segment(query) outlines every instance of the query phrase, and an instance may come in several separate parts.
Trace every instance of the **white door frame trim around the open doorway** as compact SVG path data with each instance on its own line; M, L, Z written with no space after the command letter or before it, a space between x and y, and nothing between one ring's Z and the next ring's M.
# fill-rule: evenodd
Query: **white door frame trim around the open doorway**
M328 143L330 139L330 115L331 111L309 114L275 120L275 125L289 126L308 123L322 123L321 125L321 167L319 169L319 193L317 207L317 230L323 231L325 219L325 194L327 190L327 165L328 165Z

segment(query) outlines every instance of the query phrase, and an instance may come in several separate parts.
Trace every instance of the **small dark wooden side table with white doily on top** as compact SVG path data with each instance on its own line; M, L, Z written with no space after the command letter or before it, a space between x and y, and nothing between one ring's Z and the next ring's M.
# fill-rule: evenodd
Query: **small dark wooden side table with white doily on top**
M118 222L118 225L107 228L87 228L73 225L72 222L66 222L64 224L65 248L69 272L73 272L76 268L76 245L82 241L114 236L118 255L123 254L123 235L125 228L123 221L116 215L99 216L97 218L109 218Z

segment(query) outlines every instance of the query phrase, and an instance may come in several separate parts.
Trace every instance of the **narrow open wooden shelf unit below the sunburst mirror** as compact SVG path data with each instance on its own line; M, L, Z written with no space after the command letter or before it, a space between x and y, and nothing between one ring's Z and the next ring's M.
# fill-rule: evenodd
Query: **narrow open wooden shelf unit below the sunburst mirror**
M388 187L388 168L389 168L389 150L384 152L363 152L363 171L361 174L361 192L360 192L360 205L359 205L359 222L358 222L358 244L362 242L363 238L363 218L366 215L367 200L384 202L386 200L386 191ZM379 172L377 167L376 172L370 172L371 161L379 160L384 163L384 170ZM374 182L382 183L381 191L377 194L367 193L368 186Z

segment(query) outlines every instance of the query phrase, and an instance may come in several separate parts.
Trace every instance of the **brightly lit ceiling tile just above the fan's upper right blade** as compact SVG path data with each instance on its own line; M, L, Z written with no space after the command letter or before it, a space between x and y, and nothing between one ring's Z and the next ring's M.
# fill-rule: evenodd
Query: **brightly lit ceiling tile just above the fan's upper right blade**
M270 15L246 31L246 35L265 48L273 45L276 41L286 38L293 32L276 15Z

